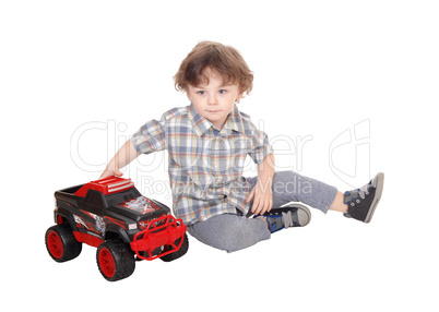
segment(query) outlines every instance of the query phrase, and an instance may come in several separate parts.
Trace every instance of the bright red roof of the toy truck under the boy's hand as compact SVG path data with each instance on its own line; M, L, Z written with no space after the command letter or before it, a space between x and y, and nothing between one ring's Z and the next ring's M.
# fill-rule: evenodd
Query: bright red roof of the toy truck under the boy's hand
M108 177L95 181L91 181L84 184L81 189L74 192L74 195L85 197L88 190L95 190L102 192L104 195L118 193L129 190L134 187L131 179L123 179L118 177Z

